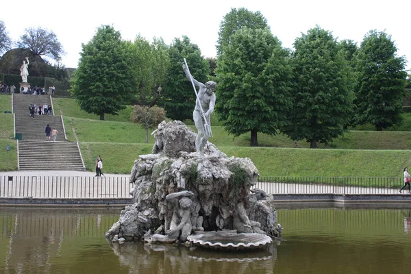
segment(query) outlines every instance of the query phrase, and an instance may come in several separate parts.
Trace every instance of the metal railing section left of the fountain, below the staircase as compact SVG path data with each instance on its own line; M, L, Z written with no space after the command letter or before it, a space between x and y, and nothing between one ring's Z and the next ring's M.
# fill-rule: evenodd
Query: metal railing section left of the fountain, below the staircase
M1 176L0 197L132 198L129 177Z

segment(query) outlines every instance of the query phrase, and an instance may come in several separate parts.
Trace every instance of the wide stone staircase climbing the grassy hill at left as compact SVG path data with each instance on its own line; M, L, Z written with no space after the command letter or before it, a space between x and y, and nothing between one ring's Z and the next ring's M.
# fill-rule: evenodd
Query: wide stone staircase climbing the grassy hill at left
M84 171L77 142L65 139L61 116L29 115L29 104L51 105L49 95L13 94L14 125L18 140L18 169L21 171L70 170ZM45 128L58 130L56 142L46 141Z

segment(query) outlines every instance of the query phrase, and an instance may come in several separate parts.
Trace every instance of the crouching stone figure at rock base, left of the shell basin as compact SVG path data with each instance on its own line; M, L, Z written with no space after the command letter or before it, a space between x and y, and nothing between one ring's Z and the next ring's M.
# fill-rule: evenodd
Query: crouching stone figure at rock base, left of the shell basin
M175 242L179 239L182 242L187 240L191 234L191 206L192 201L188 196L194 195L192 192L184 190L171 193L166 196L166 200L173 203L173 216L170 228L166 230L166 235L154 234L145 235L147 242ZM181 232L181 233L180 233Z

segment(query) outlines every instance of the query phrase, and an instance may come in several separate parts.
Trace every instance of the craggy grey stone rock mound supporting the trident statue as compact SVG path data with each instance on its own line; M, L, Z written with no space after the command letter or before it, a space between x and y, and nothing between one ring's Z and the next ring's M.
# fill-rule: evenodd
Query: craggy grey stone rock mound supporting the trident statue
M190 226L188 234L236 229L277 236L273 197L250 192L258 170L249 158L229 158L210 142L195 152L196 134L180 121L163 121L153 136L152 153L132 168L134 204L106 233L109 240L184 241Z

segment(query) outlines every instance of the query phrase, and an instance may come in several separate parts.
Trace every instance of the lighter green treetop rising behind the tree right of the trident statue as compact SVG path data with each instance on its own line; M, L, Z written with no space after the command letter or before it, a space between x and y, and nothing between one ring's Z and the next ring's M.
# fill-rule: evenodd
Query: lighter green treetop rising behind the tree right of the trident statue
M269 27L267 20L260 12L250 12L246 8L232 10L225 14L223 21L220 23L219 38L217 40L217 55L223 54L224 47L229 45L230 36L238 30L248 27L249 29L264 29Z

